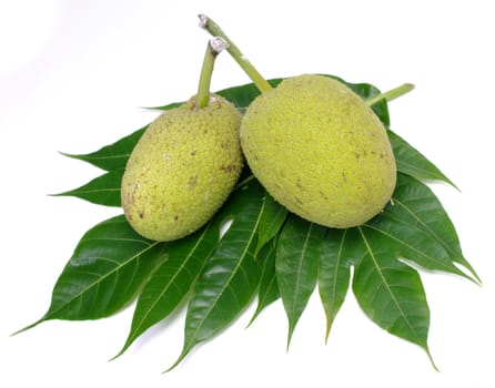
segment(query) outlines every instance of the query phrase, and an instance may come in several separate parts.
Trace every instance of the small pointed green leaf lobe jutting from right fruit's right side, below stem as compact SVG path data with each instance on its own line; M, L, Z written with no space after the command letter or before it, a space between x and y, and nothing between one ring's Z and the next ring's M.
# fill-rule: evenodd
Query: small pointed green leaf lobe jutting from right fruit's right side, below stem
M418 181L443 181L449 185L455 184L447 178L432 162L430 162L416 149L392 131L387 131L388 140L394 150L397 170L411 175ZM456 187L457 188L457 187Z

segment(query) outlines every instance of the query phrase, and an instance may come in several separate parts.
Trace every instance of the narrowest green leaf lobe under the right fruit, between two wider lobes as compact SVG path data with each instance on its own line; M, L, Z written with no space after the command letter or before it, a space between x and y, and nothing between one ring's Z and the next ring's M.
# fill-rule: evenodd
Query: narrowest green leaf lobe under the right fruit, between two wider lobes
M346 255L347 229L329 229L323 243L319 270L319 292L326 316L329 338L332 324L344 303L351 278L351 261Z

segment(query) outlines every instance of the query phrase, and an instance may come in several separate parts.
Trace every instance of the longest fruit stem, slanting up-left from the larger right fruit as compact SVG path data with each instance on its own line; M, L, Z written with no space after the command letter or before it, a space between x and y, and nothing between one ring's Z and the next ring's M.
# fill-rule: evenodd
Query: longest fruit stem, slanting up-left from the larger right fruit
M260 72L251 64L251 62L243 55L241 50L232 42L225 32L205 14L200 14L200 27L210 32L213 37L221 37L229 44L226 51L239 63L242 70L254 82L260 92L267 92L272 89L272 85L260 74Z

